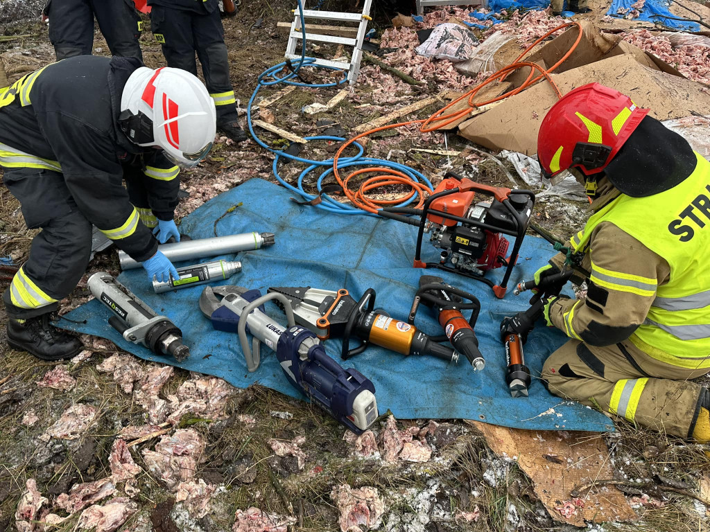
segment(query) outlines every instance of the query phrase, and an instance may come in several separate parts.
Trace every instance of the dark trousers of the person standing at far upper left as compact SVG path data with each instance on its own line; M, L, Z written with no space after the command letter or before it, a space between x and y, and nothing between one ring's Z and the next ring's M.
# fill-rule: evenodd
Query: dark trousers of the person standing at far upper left
M112 55L143 60L141 15L133 0L49 0L49 38L57 60L91 55L94 48L94 16Z

